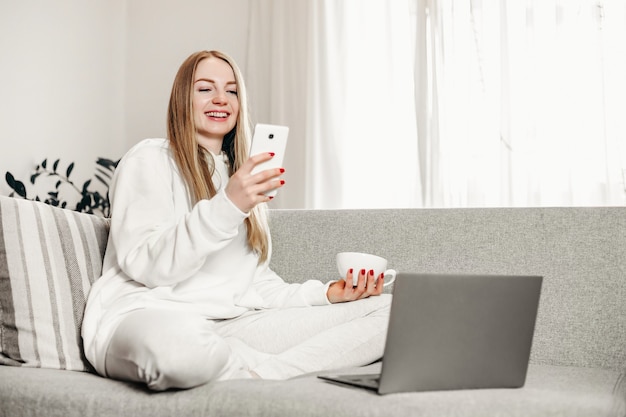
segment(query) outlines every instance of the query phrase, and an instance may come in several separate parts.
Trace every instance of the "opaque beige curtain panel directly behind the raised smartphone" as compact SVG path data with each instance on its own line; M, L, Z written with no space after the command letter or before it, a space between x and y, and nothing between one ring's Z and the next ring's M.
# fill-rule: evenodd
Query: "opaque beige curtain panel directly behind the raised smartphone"
M259 123L289 126L285 157L287 186L274 208L307 207L309 2L252 0L249 40L242 70L249 90L251 117Z

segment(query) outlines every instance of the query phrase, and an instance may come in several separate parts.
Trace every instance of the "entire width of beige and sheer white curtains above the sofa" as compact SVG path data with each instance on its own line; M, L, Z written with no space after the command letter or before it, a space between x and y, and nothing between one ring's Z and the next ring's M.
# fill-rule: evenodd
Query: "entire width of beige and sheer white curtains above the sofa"
M284 208L626 204L626 0L255 0Z

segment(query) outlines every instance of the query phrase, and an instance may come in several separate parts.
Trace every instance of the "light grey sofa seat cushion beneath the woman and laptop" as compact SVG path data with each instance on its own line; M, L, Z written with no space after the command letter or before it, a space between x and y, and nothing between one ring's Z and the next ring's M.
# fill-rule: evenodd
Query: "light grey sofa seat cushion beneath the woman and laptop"
M377 372L379 366L359 372ZM531 365L526 385L515 389L379 396L306 375L155 393L88 373L0 367L0 404L0 417L623 417L626 381L623 373L607 369Z

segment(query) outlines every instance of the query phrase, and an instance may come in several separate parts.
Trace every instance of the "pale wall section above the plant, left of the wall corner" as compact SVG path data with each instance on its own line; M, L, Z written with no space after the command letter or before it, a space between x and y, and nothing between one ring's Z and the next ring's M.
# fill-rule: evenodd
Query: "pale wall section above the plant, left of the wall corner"
M88 179L124 147L124 0L0 2L0 193L44 158Z

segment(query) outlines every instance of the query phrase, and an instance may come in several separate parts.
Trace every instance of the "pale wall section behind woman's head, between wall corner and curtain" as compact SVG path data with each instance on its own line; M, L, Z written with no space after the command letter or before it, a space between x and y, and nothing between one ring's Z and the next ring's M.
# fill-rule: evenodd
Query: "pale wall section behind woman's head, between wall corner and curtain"
M249 1L127 1L127 145L165 137L172 82L193 52L218 49L245 68Z

